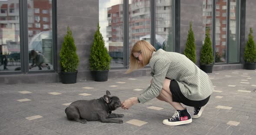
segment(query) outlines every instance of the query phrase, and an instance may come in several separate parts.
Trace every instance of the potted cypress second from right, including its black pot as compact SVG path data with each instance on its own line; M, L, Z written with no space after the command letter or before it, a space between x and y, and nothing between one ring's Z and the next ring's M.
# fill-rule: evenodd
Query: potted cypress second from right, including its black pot
M200 68L205 73L212 73L213 71L213 48L209 36L209 29L207 29L206 37L201 50Z

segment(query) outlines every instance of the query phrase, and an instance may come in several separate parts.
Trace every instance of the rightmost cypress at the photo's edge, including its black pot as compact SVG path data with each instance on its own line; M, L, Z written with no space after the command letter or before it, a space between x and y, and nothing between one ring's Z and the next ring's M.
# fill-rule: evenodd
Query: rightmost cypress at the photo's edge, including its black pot
M253 29L250 28L249 38L245 46L244 61L247 70L255 70L256 47L253 40Z

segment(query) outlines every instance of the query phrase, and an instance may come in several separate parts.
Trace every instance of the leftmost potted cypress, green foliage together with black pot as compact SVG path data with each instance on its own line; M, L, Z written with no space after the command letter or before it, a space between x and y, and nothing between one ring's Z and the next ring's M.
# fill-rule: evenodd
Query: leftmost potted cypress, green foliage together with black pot
M76 83L77 70L79 58L76 54L76 46L72 37L72 31L68 26L67 34L64 36L62 48L59 53L60 65L62 68L61 78L63 84Z

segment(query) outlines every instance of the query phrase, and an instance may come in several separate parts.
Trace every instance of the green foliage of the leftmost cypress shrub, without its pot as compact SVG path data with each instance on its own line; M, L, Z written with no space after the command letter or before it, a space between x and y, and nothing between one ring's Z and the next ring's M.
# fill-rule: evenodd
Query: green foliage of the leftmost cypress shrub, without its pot
M79 64L79 58L76 54L75 42L72 37L72 31L68 26L67 34L64 36L62 48L59 53L60 65L64 72L75 72Z

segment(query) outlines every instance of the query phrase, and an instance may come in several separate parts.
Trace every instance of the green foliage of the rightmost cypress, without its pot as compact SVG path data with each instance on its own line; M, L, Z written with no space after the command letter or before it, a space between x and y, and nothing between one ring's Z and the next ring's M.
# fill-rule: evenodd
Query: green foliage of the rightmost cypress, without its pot
M244 60L245 62L256 62L256 47L253 41L253 30L250 28L249 38L245 46L244 51Z

